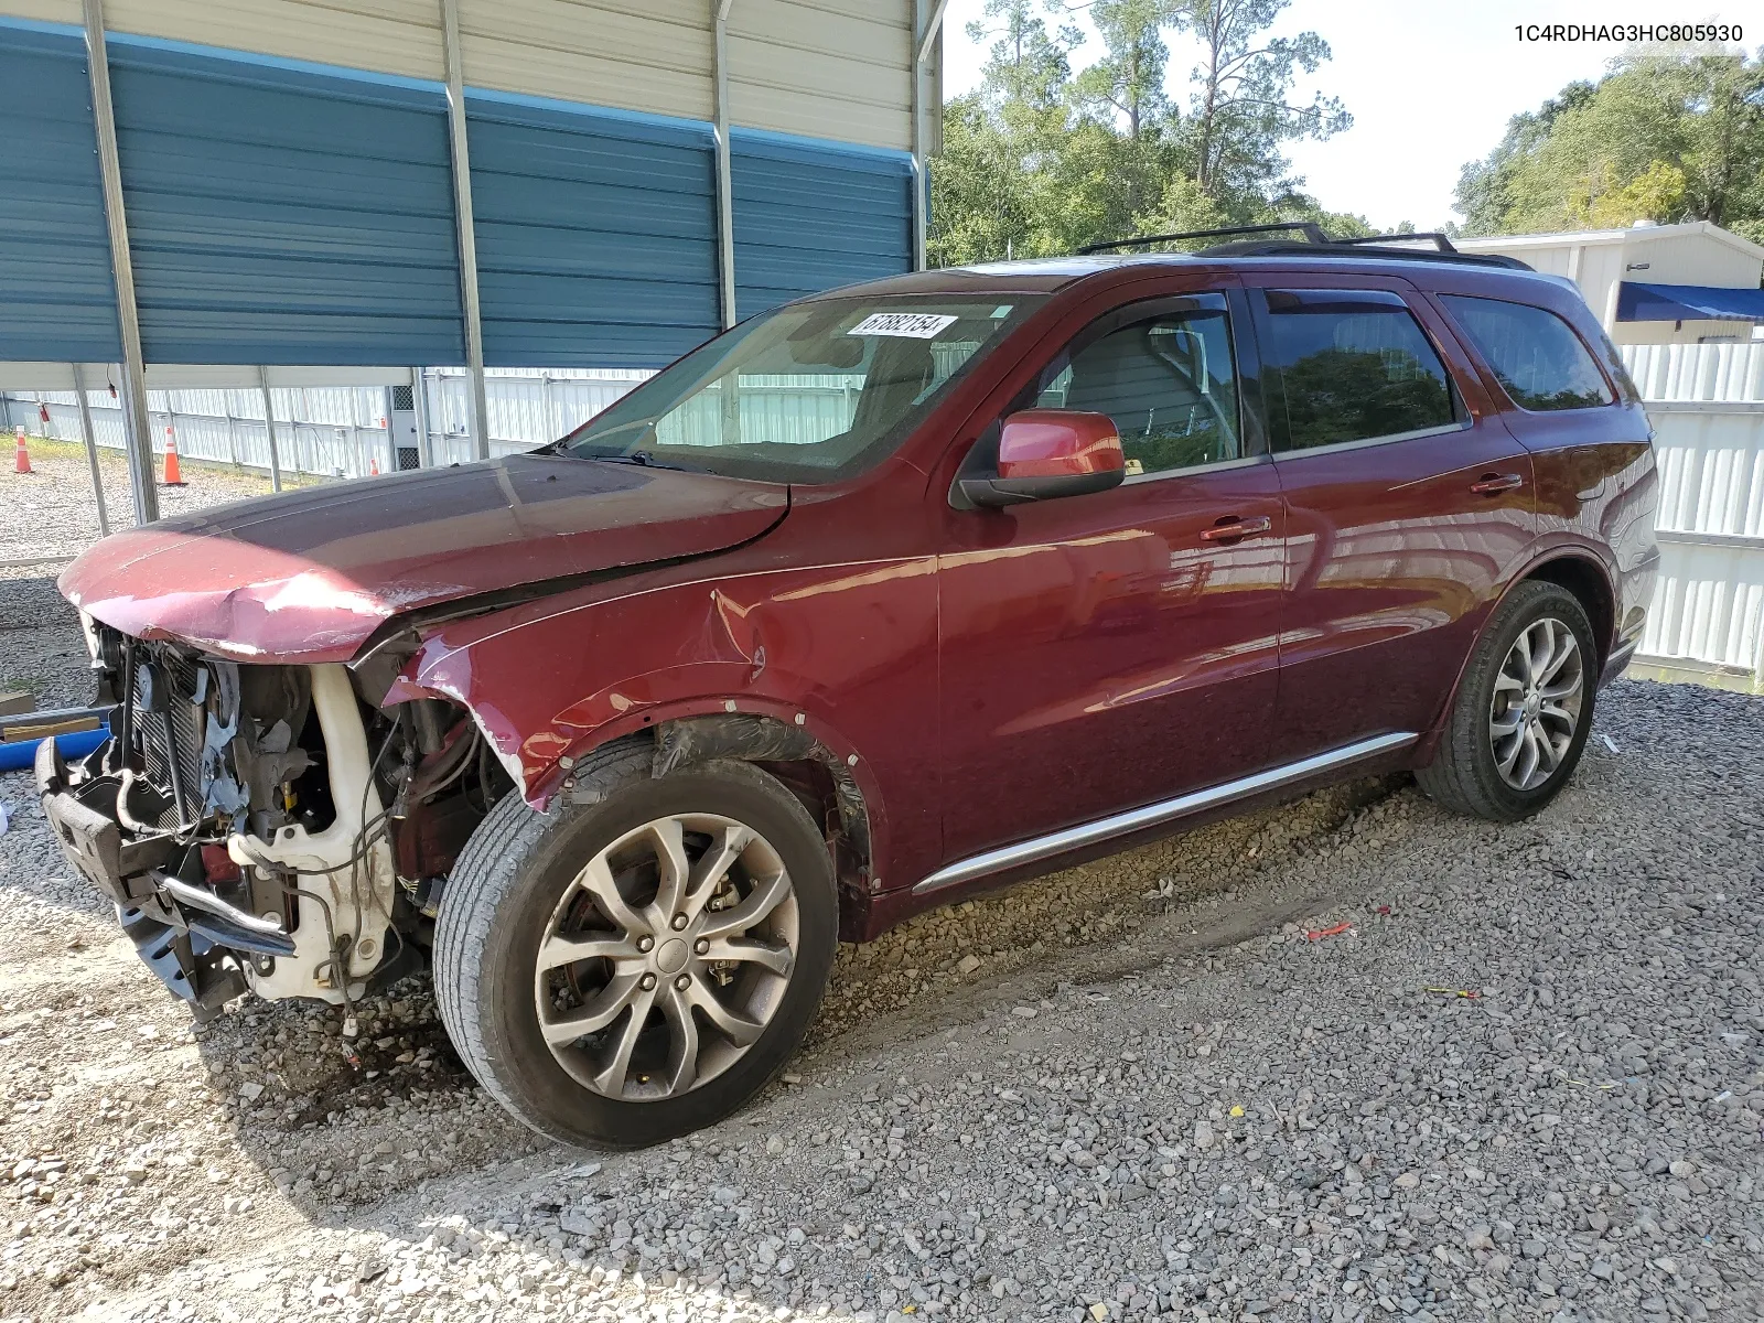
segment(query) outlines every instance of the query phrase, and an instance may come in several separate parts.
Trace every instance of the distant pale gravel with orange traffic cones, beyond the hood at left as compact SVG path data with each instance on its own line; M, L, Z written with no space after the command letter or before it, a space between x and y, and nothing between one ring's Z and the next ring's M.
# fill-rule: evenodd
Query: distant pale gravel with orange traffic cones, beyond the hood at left
M11 436L5 437L11 453ZM32 473L0 466L0 564L46 557L74 557L99 538L99 508L92 496L92 467L83 446L30 437ZM159 460L153 462L155 473ZM185 487L161 487L159 512L187 515L212 505L265 496L270 480L245 469L183 460ZM129 464L116 450L99 450L104 508L111 529L134 527ZM39 570L41 573L41 570Z

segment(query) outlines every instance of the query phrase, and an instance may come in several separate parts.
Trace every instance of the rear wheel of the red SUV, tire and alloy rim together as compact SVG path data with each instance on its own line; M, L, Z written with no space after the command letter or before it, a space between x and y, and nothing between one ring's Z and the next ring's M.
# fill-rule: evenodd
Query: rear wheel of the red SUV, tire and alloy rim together
M1434 759L1415 780L1454 813L1531 817L1581 762L1596 681L1598 646L1579 598L1528 579L1494 609Z

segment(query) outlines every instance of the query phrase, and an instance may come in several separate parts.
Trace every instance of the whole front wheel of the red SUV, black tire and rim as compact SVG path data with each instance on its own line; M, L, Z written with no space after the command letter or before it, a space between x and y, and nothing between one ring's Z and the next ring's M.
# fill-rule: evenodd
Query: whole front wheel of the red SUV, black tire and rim
M833 864L796 796L732 760L656 780L653 751L589 755L549 813L508 796L441 896L448 1037L563 1143L637 1148L730 1115L796 1051L833 967Z

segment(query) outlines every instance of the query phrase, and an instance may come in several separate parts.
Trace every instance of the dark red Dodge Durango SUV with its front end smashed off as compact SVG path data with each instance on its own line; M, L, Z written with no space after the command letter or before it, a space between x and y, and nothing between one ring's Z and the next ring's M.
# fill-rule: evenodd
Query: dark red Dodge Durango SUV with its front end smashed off
M1536 811L1653 512L1618 355L1510 259L905 275L534 453L99 543L115 737L37 780L198 1014L432 963L510 1111L640 1145L781 1067L840 938L1349 776Z

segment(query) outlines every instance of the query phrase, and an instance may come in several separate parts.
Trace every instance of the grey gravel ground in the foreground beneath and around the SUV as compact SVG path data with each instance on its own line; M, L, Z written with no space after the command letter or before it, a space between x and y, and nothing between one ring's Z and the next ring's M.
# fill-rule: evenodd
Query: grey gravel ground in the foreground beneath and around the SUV
M1764 700L1596 730L1526 824L1362 783L845 949L780 1085L616 1155L422 981L192 1030L0 776L0 1316L1755 1319Z

